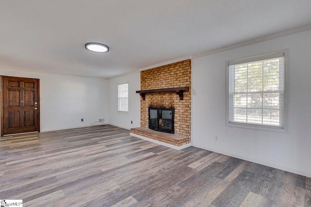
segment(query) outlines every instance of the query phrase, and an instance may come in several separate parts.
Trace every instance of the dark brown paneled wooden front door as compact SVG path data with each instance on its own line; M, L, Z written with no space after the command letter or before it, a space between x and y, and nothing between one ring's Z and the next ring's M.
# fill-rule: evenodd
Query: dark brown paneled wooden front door
M1 136L40 131L39 80L1 76Z

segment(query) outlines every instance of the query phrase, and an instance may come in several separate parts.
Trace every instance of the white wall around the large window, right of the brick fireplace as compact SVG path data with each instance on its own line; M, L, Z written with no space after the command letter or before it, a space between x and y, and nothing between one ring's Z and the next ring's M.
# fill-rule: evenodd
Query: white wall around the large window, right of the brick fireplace
M289 48L289 133L225 126L225 61ZM311 177L311 31L192 59L192 144ZM218 136L218 141L214 136Z

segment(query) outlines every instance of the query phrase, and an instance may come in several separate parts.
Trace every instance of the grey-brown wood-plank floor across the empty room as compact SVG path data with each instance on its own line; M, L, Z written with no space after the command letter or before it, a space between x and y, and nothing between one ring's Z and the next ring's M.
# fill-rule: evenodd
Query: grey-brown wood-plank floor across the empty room
M0 138L0 199L23 206L310 207L311 178L106 125Z

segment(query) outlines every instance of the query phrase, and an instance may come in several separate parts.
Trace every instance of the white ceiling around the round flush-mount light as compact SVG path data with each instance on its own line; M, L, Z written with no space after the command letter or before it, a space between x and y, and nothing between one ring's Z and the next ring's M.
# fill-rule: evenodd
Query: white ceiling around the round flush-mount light
M311 24L311 0L1 0L0 68L109 78ZM88 42L108 53L86 50Z

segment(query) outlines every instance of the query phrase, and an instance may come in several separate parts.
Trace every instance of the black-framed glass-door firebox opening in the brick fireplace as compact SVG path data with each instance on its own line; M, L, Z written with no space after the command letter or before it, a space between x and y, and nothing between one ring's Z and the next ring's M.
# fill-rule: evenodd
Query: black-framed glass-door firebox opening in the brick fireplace
M174 133L174 109L149 107L148 114L150 129Z

